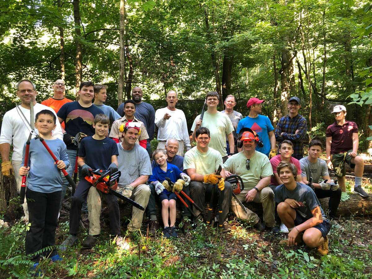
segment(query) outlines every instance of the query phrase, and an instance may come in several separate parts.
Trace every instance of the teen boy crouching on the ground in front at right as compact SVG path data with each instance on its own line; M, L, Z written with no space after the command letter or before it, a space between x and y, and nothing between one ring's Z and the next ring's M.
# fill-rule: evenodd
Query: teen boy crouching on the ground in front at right
M284 184L276 187L275 202L279 217L289 230L288 239L280 243L292 246L303 240L308 247L318 247L319 254L328 254L327 234L331 226L314 191L296 182L298 170L294 164L280 162L277 170Z

